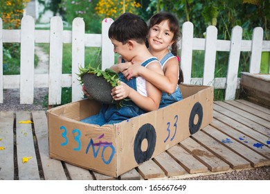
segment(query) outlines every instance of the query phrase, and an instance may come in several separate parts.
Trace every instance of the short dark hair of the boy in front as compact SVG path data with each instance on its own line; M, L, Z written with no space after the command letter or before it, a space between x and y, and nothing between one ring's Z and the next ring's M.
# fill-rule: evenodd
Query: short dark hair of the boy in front
M126 44L129 39L144 44L147 34L148 28L145 21L129 12L120 15L109 27L109 38L116 39L122 44Z

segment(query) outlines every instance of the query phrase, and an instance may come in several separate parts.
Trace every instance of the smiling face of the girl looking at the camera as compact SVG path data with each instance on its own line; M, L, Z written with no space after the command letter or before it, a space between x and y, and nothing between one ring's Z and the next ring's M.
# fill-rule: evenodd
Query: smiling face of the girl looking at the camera
M170 31L168 20L165 20L150 28L147 40L152 49L162 50L167 49L169 45L172 45L173 37L174 33Z

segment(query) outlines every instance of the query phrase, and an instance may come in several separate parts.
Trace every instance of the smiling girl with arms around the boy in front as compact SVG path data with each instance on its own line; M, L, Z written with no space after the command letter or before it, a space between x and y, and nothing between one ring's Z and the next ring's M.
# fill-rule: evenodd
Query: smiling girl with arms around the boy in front
M165 107L183 99L178 86L183 82L183 75L176 57L177 41L181 36L179 23L170 12L159 12L151 17L148 28L149 51L161 62L165 76L151 72L149 69L134 64L133 61L120 64L119 69L127 80L142 76L161 89L163 93L159 107Z

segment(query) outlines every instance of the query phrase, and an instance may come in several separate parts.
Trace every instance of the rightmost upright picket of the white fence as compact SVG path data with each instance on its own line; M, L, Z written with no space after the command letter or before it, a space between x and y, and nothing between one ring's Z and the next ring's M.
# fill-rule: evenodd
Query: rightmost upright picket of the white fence
M257 27L253 29L249 73L260 73L260 60L262 58L263 33L264 32L261 27Z

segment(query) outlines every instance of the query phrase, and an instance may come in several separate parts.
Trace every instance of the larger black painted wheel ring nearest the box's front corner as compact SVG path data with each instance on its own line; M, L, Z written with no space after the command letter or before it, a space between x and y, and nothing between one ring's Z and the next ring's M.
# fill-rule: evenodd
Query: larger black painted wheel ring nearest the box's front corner
M147 150L144 152L141 150L141 144L143 140L147 140ZM149 160L156 147L156 130L150 123L146 123L138 130L134 140L134 157L137 164L142 164L144 161Z

